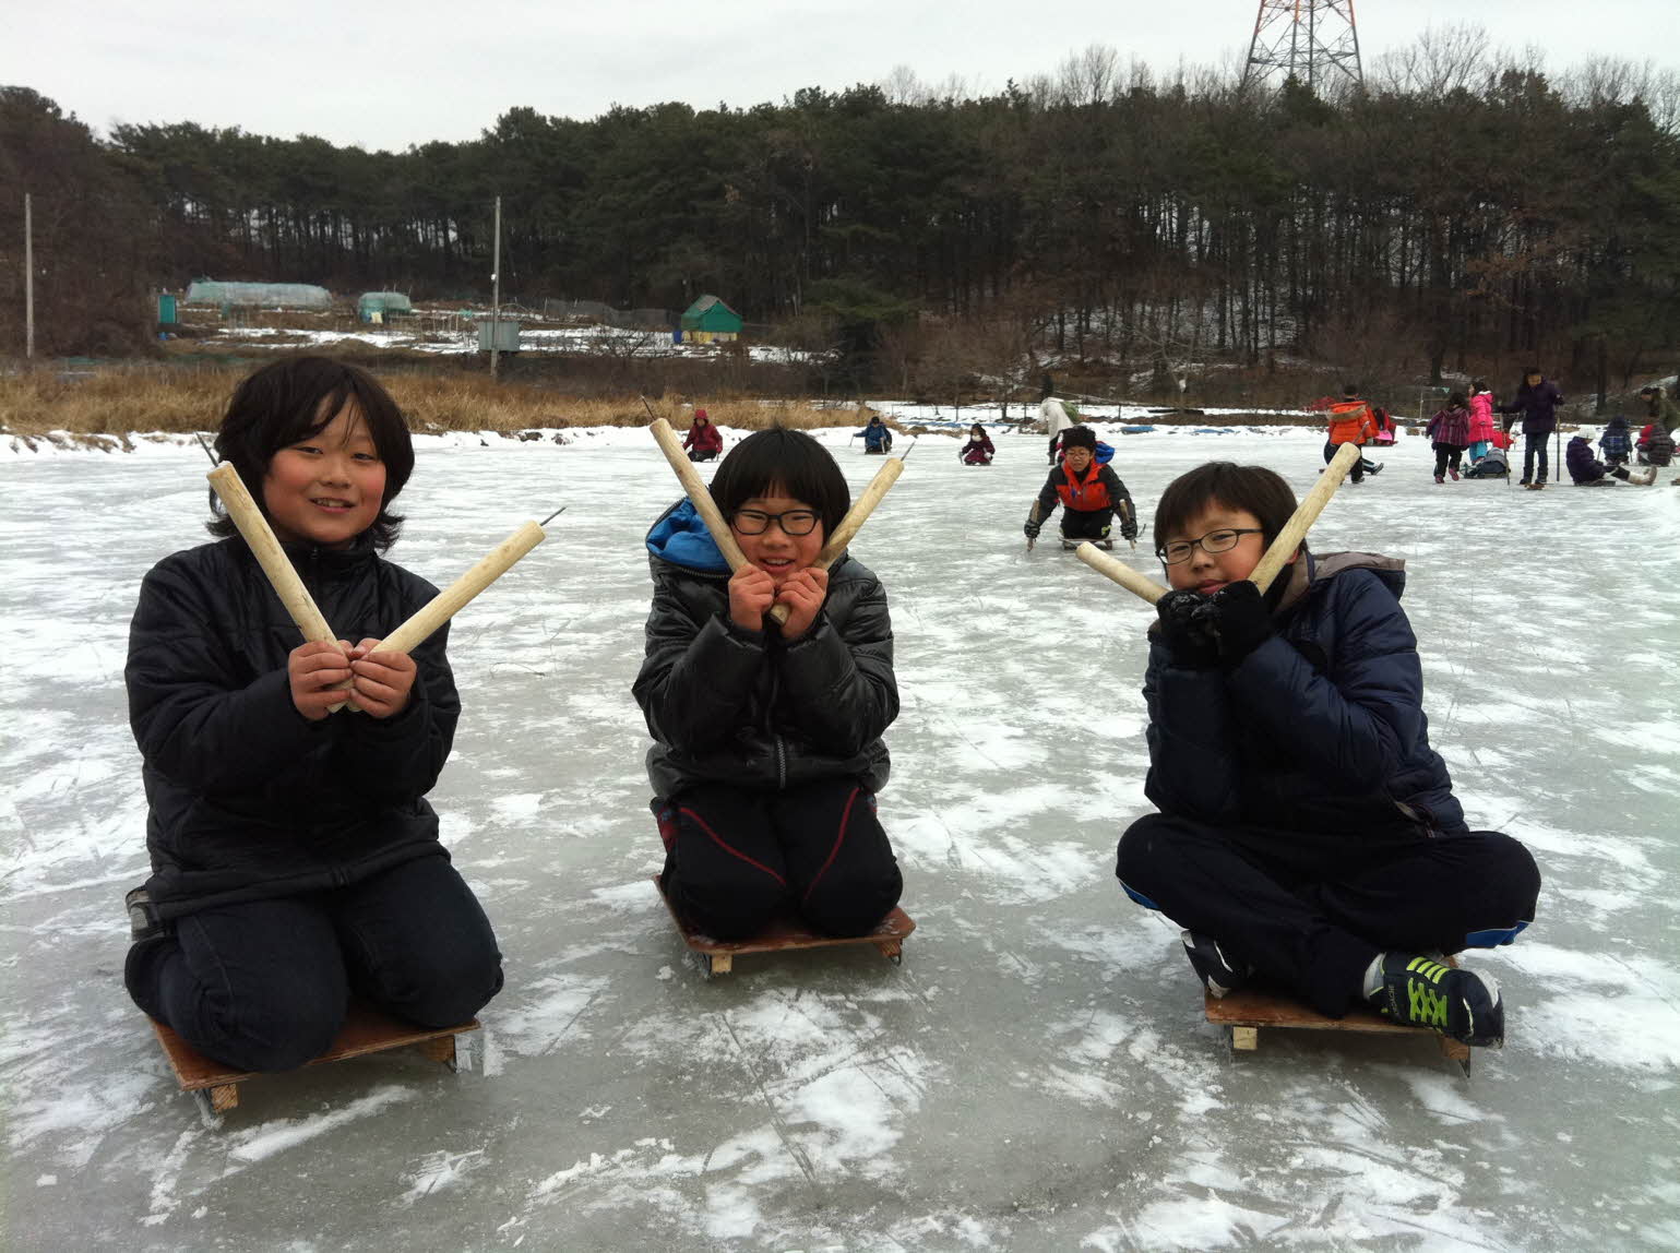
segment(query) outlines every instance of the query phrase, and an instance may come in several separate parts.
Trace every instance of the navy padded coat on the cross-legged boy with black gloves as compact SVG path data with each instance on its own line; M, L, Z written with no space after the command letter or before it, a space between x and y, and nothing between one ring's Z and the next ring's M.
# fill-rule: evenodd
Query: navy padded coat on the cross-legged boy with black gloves
M1174 665L1152 632L1149 800L1258 828L1268 843L1277 831L1324 865L1463 833L1446 763L1430 747L1401 566L1309 554L1273 615L1278 633L1230 672Z

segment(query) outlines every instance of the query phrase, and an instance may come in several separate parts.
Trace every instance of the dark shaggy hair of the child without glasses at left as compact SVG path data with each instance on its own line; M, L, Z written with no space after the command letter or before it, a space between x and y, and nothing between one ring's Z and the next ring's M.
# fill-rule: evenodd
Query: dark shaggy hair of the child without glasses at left
M326 356L294 356L262 366L234 388L215 437L215 450L239 470L250 497L267 517L262 480L269 475L269 460L281 448L324 430L349 401L354 401L373 447L385 462L385 499L380 501L380 516L368 527L373 546L383 553L402 532L403 519L390 507L413 474L415 448L403 412L366 370ZM213 489L210 512L215 514L205 524L210 534L239 534L234 519L220 509Z

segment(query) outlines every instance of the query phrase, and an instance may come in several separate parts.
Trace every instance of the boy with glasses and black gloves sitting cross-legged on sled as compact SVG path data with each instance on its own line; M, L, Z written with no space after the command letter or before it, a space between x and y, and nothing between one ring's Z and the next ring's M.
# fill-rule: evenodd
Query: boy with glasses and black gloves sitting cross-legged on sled
M1440 954L1509 944L1539 872L1472 831L1430 747L1404 563L1302 544L1248 579L1295 511L1277 474L1211 462L1156 507L1171 591L1151 626L1146 794L1126 894L1184 927L1225 996L1263 978L1341 1018L1371 1003L1470 1045L1505 1035L1499 986Z

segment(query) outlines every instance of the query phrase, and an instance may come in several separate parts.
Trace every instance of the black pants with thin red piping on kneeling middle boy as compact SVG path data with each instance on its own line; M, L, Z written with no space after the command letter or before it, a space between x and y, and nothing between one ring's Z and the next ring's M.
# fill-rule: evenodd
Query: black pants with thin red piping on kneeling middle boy
M875 798L852 779L759 793L707 783L660 808L665 894L712 939L748 939L793 912L828 936L864 936L904 878Z

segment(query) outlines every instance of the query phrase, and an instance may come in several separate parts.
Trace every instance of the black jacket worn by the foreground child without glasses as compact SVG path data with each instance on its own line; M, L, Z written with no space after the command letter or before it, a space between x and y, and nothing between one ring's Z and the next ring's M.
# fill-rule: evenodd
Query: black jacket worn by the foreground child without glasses
M380 559L287 546L341 640L388 635L437 590ZM128 643L128 710L144 759L146 848L163 917L354 883L444 853L423 800L460 700L447 626L413 650L408 705L390 719L292 704L302 643L244 539L165 558L146 574Z

